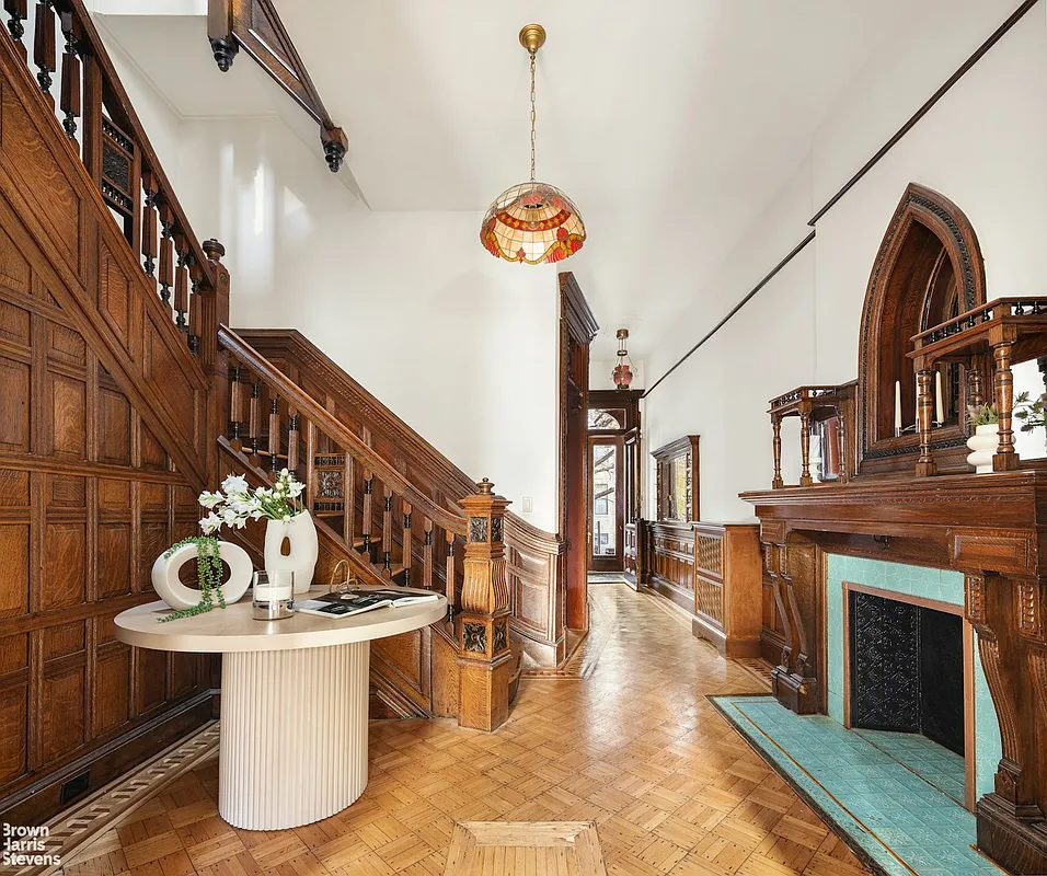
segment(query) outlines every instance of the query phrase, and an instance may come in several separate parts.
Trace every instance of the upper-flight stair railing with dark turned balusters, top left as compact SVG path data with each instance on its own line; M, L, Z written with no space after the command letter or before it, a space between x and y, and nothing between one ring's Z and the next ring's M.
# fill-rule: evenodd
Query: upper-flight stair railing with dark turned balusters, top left
M82 0L4 0L3 9L8 34L0 38L13 44L31 72L35 68L44 99L146 277L189 350L206 364L214 326L206 326L200 296L218 289L220 272L193 233L91 15ZM56 103L53 73L59 70Z

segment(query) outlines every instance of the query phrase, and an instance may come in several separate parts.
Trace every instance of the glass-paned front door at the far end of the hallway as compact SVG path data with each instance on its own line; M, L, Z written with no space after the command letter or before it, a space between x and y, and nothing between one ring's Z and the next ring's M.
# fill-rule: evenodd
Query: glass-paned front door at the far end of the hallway
M589 568L624 569L625 441L622 436L589 437Z

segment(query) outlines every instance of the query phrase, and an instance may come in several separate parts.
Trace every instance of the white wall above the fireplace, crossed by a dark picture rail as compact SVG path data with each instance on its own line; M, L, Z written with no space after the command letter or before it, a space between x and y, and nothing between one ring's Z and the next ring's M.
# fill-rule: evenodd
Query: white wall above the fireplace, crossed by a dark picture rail
M1043 7L1028 13L818 221L815 241L645 400L648 448L687 433L702 436L703 518L747 519L751 506L737 494L770 485L767 400L802 383L856 377L859 321L870 270L909 182L941 192L967 214L985 255L990 299L1043 295L1045 15ZM739 242L711 288L730 288L734 300L740 300L809 232L806 220L1000 21L1002 16L985 12L978 21L968 21L969 33L951 43L948 51L935 49L933 39L928 43L919 30L888 41L888 54L867 68L828 114L808 160ZM930 48L916 65L910 55L920 54L911 44L918 37L924 41L921 50ZM701 312L701 302L702 290L695 290L692 316ZM699 339L688 314L679 325L647 357L648 383ZM1019 389L1043 392L1036 377L1035 367L1025 369L1016 378ZM784 474L792 483L798 477L794 426L787 420L783 426ZM1042 434L1020 441L1020 452L1043 456Z

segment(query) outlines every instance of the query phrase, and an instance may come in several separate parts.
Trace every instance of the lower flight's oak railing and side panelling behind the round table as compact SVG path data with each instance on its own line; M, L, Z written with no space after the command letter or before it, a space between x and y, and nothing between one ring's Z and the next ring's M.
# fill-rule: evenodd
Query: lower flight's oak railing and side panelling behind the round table
M314 583L337 583L348 574L365 584L392 583L447 596L451 608L446 622L372 643L372 716L459 716L461 624L456 624L456 612L465 586L465 514L411 483L235 332L221 326L219 346L230 381L228 435L218 438L221 470L244 474L257 485L286 468L306 484L303 496L321 546ZM499 540L503 519L497 521ZM261 528L233 534L261 556ZM509 649L515 692L522 647L510 641Z

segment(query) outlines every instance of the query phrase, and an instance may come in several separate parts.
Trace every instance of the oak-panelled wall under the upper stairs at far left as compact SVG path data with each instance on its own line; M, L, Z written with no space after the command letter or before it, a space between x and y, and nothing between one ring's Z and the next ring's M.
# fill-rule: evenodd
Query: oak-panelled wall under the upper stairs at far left
M205 658L112 623L196 529L207 383L7 42L0 64L0 817L34 823L210 717Z

